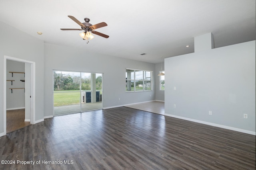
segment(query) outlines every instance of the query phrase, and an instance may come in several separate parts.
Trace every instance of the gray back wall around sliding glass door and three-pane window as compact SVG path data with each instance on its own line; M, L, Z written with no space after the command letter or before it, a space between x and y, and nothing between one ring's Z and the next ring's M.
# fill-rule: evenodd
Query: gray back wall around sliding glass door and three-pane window
M85 44L86 45L86 44ZM123 59L44 44L44 115L53 115L53 70L70 70L103 73L103 107L116 107L127 104L155 100L154 76L153 91L126 93L126 68L155 72L155 64ZM120 98L120 100L118 100Z

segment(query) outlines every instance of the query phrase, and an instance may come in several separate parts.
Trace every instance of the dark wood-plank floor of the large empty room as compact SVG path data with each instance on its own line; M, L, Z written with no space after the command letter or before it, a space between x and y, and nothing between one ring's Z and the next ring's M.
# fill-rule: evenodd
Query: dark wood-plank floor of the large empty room
M255 136L117 107L45 119L0 137L0 160L40 161L0 164L21 170L255 170Z

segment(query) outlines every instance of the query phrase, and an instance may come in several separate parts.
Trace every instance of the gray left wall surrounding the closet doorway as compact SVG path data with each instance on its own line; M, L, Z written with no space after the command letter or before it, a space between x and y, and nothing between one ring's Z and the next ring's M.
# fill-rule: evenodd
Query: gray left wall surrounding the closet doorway
M3 129L4 55L36 63L36 116L44 117L44 42L0 22L0 134ZM15 33L15 34L14 34Z

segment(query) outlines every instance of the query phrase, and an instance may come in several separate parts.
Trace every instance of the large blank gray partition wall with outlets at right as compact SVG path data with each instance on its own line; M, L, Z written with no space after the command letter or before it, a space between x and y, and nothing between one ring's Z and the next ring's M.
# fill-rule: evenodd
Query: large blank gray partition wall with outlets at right
M165 115L255 133L255 41L165 59L165 84Z

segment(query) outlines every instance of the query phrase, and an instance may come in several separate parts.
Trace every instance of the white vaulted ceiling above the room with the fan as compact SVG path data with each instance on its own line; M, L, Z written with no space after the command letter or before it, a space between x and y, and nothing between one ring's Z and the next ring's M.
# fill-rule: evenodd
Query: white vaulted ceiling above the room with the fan
M0 21L30 35L62 46L93 53L160 63L164 58L194 52L194 37L210 33L214 45L223 47L255 40L255 0L1 0ZM86 44L81 27L90 18L96 29ZM38 35L40 31L43 34ZM190 45L190 47L186 47ZM140 55L146 53L146 55Z

